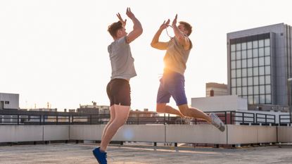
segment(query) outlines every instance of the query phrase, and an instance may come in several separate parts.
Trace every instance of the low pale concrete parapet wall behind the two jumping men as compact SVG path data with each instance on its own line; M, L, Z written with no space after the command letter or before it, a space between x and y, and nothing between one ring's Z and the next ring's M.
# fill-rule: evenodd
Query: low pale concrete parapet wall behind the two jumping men
M101 140L105 125L2 125L0 143L54 140ZM197 144L260 144L291 142L292 127L226 125L124 125L113 141Z

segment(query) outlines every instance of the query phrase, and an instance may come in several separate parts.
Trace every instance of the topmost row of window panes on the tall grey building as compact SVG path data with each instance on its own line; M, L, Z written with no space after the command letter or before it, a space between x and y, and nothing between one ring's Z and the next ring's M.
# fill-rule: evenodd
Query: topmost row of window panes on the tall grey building
M231 51L241 51L246 49L258 49L259 47L270 46L269 39L254 40L252 42L242 42L231 44Z

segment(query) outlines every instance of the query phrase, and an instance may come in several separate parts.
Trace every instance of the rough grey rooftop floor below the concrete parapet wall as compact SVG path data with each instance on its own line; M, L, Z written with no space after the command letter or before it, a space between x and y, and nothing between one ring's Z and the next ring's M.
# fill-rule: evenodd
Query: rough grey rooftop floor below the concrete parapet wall
M0 163L97 163L94 144L37 144L0 146ZM240 149L173 146L109 146L108 163L292 163L292 146Z

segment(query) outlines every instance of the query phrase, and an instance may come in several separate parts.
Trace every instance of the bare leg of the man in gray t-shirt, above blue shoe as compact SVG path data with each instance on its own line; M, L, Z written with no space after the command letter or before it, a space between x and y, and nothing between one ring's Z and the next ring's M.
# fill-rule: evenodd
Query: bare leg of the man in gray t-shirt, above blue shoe
M129 106L114 105L114 109L115 119L110 125L108 125L106 133L103 136L103 140L101 141L101 151L106 151L110 140L113 139L113 136L118 129L125 124L129 116Z

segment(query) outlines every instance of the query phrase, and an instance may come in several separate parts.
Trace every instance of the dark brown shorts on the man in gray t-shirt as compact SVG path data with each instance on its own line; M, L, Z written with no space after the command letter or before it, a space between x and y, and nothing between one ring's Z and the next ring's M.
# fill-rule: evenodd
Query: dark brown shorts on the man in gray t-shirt
M131 88L129 81L125 79L113 79L106 86L106 93L110 99L110 106L113 104L120 106L131 106Z

